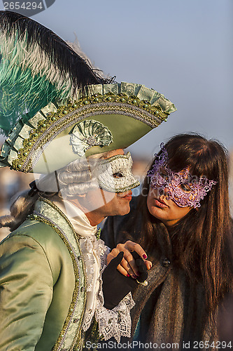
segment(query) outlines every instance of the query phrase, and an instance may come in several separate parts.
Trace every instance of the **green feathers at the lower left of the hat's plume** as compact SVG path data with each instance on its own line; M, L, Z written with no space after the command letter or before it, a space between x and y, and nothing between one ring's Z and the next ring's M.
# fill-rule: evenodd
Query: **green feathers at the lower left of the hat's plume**
M19 51L17 39L15 47L7 54L1 45L0 128L6 134L20 116L27 113L28 120L58 95L60 98L69 96L68 92L62 92L51 84L45 75L33 74L30 67L22 64L21 50L24 49L21 45Z

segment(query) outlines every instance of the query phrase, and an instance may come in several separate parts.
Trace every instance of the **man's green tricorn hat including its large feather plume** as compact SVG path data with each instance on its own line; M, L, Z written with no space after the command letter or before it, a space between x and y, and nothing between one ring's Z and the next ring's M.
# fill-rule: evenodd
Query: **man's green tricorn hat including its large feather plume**
M176 110L153 89L113 84L50 29L0 11L0 166L50 173L125 148Z

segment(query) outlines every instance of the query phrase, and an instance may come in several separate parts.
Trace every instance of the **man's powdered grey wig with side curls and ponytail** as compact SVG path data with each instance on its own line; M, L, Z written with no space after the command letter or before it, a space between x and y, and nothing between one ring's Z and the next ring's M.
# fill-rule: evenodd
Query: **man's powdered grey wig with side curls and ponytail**
M10 204L10 216L0 217L0 227L10 227L11 232L17 229L34 211L38 194L47 198L52 198L56 194L59 197L69 198L97 189L99 184L92 176L92 169L98 159L107 159L108 154L109 152L105 152L92 155L88 159L78 159L58 171L42 176L36 181L37 191L33 196L30 190L24 190L13 198Z

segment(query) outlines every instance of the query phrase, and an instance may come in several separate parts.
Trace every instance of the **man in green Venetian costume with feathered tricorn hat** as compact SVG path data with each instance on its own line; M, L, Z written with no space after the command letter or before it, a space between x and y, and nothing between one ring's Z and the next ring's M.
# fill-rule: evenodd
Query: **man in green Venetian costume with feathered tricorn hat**
M128 213L139 185L123 149L176 109L145 86L99 77L37 22L0 15L1 166L43 174L1 218L12 233L0 245L0 349L80 350L93 317L120 341L134 302L129 293L106 308L97 225Z

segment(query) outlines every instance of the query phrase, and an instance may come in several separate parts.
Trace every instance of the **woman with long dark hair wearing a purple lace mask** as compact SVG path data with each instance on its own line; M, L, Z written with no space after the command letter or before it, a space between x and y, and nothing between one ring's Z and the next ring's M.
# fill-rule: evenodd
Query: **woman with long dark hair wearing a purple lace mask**
M153 262L148 286L134 293L134 340L176 350L225 347L217 317L232 291L233 245L228 157L220 143L181 134L162 145L132 211L108 218L102 238L111 247L136 241ZM108 261L125 251L119 270L136 274L129 242L118 244Z

